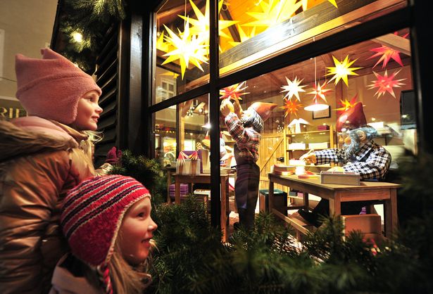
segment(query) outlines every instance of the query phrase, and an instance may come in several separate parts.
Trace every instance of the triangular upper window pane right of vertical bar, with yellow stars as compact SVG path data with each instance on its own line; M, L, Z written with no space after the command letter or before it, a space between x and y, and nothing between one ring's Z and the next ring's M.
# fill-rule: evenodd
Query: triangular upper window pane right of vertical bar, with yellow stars
M407 1L220 1L220 75L406 6ZM232 20L235 25L221 25Z

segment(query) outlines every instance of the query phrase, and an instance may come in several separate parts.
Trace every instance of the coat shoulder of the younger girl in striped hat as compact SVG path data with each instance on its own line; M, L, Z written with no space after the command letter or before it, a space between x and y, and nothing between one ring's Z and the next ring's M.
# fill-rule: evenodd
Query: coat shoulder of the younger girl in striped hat
M67 257L64 255L54 269L49 294L103 294L102 289L94 288L81 273L71 273L63 264Z

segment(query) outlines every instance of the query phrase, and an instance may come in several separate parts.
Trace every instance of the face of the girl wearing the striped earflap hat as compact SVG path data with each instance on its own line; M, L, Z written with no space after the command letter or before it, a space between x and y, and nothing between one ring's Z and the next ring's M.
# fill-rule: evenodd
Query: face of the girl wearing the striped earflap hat
M120 226L119 245L123 258L137 265L146 260L151 248L153 231L158 226L151 218L151 199L146 197L127 210Z

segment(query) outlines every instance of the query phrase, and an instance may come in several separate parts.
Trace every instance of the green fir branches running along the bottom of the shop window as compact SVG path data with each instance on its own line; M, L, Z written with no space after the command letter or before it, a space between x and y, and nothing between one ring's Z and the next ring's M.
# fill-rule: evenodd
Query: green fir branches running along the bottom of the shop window
M408 156L399 164L399 200L419 213L379 244L358 232L342 238L341 221L330 218L299 247L290 227L264 214L252 231L236 231L224 244L207 207L193 196L156 205L158 249L146 293L433 293L433 158ZM112 173L158 187L161 167L125 151ZM166 191L165 179L160 188Z

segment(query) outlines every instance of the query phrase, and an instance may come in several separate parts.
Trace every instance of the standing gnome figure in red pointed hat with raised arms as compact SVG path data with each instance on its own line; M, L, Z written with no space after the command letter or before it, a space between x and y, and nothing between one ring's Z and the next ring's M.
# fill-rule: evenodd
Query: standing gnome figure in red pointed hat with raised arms
M242 110L239 101L234 105L229 99L222 100L221 114L225 117L225 125L232 135L234 159L237 162L237 179L234 183L234 197L239 212L239 223L245 229L254 225L254 215L258 198L260 169L258 146L260 144L263 122L268 120L275 103L255 102L247 110Z

